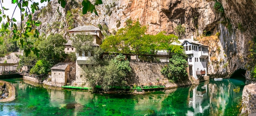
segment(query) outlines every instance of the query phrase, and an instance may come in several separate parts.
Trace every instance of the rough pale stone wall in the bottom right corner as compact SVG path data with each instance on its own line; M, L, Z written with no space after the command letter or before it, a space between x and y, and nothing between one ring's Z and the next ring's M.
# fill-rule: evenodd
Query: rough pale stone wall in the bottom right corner
M245 85L242 95L241 116L256 116L256 83Z

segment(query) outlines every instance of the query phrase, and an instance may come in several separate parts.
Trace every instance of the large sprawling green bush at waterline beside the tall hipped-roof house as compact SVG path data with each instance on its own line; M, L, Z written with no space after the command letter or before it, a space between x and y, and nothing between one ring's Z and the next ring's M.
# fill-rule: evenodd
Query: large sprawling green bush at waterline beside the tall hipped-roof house
M131 72L129 61L124 59L124 55L118 55L112 60L105 61L104 65L84 67L85 77L92 88L100 85L105 91L112 86L127 85L127 77Z

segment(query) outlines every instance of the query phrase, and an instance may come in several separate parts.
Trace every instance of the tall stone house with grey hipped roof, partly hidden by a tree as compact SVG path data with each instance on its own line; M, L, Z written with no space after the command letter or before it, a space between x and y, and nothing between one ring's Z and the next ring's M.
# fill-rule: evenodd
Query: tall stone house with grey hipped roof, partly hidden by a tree
M73 28L69 31L69 33L72 36L75 36L76 34L85 34L85 35L92 35L93 42L92 46L99 47L102 43L102 33L101 30L95 26L89 25L89 26L78 26L76 28ZM83 77L83 69L82 67L90 67L94 65L93 61L90 61L90 57L92 57L93 53L90 53L90 51L80 52L78 53L76 51L76 80L72 84L72 86L81 86L85 81Z

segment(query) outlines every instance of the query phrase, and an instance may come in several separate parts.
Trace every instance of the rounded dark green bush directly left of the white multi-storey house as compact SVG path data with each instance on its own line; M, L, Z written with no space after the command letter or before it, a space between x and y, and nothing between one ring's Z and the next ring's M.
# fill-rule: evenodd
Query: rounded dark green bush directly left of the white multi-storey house
M188 67L188 65L185 60L185 55L173 55L169 60L170 62L168 65L164 66L161 70L163 75L173 82L188 76L186 72L186 67Z

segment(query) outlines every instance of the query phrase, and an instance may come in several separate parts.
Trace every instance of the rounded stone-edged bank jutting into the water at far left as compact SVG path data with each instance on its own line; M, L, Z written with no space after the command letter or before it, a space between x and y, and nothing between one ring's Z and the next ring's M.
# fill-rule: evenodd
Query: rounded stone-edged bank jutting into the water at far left
M4 88L1 88L1 90L4 89L5 91L3 95L4 98L0 99L0 102L13 101L16 97L16 91L14 86L11 83L7 81L2 81L2 80L0 80L0 85L4 87Z

